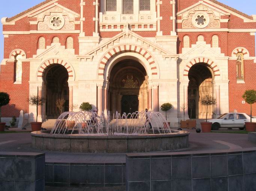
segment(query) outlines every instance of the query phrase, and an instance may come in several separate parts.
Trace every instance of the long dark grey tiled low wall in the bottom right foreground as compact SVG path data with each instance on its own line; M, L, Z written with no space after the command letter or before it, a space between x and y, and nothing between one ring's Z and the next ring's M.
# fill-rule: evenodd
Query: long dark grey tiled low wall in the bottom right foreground
M254 150L126 155L126 191L254 191Z

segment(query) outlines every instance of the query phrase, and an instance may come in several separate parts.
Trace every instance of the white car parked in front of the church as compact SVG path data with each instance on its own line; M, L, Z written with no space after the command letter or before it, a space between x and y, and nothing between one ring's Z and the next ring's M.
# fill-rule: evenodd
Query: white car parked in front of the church
M239 128L243 130L245 128L245 122L250 122L250 116L246 113L225 113L217 119L209 119L207 122L212 122L212 130L218 130L219 128ZM256 122L255 118L252 118L252 122Z

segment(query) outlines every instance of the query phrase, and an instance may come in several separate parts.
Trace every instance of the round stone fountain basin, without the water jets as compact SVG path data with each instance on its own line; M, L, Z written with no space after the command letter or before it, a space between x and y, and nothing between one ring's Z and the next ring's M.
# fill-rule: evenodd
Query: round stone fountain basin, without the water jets
M170 134L83 135L31 132L32 146L39 150L81 153L134 153L165 151L189 146L189 132L171 130Z

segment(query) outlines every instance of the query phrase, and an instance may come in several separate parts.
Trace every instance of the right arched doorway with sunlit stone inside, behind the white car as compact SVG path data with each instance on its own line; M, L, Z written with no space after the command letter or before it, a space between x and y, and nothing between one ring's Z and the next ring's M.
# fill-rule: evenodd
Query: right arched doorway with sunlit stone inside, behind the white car
M210 68L204 63L197 63L189 70L188 86L188 114L192 119L205 119L206 106L200 103L204 95L213 96L212 79ZM208 116L213 115L213 107L208 107Z

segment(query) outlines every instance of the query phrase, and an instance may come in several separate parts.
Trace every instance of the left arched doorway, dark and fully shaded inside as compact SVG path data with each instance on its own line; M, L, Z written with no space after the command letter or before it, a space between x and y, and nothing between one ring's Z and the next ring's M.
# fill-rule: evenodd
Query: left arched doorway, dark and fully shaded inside
M63 98L65 100L62 112L69 111L69 73L67 69L60 64L52 64L45 69L44 82L46 83L46 117L48 119L57 119L60 110L56 106L56 100Z

